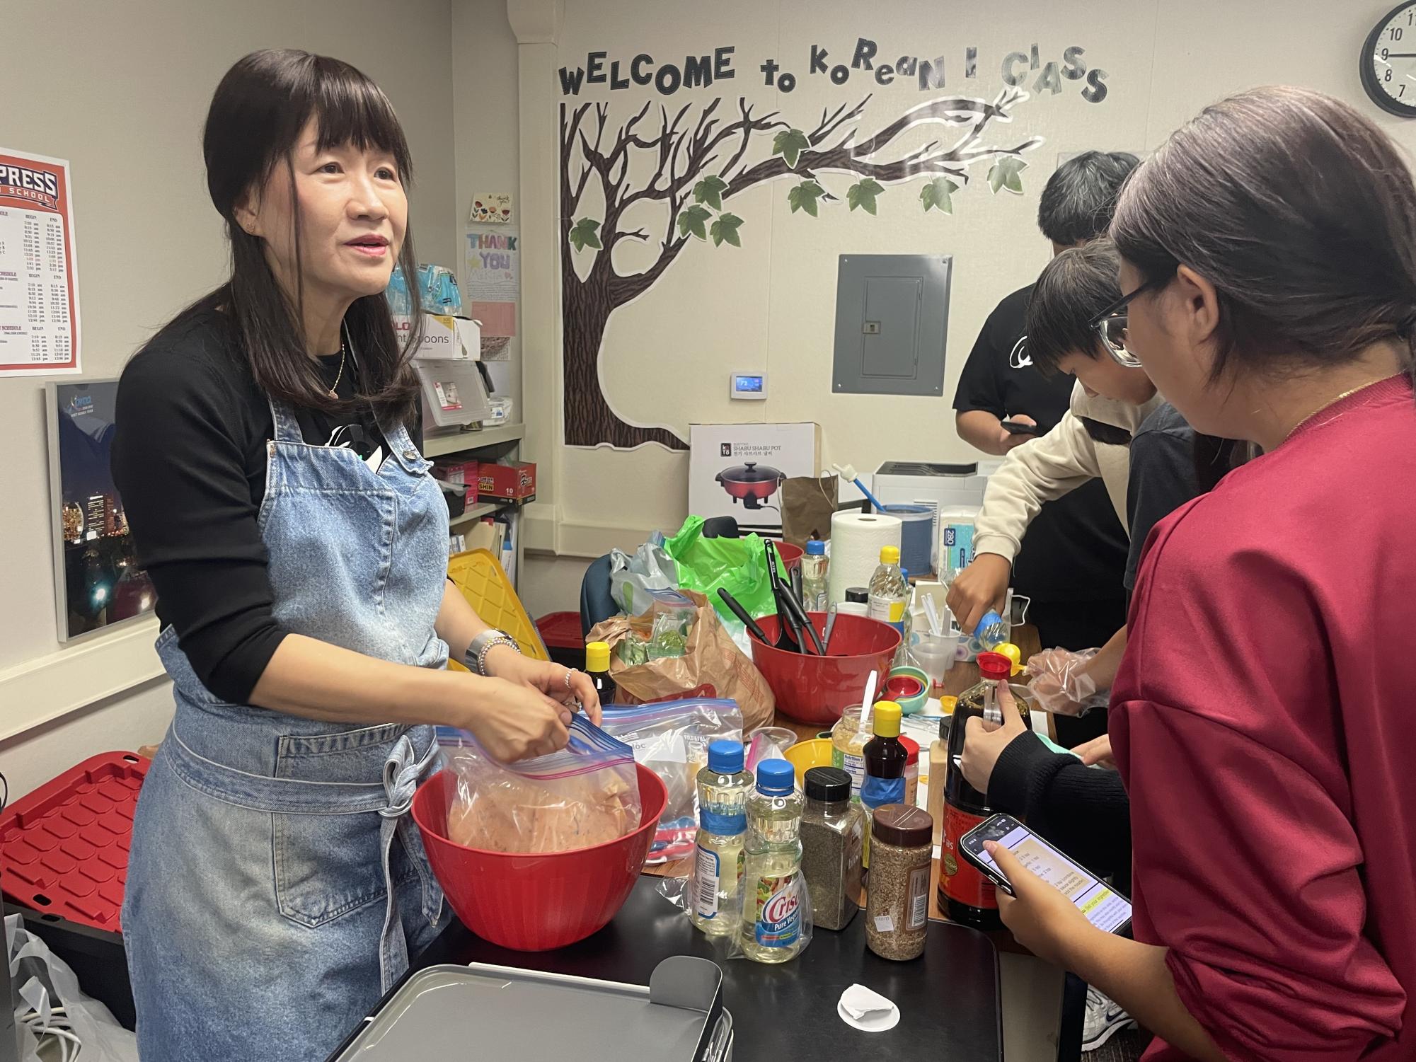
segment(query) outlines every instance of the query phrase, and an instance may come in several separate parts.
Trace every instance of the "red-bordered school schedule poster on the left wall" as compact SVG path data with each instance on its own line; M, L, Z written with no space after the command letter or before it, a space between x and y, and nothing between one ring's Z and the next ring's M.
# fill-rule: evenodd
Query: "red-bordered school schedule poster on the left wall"
M0 377L79 371L69 164L0 149Z

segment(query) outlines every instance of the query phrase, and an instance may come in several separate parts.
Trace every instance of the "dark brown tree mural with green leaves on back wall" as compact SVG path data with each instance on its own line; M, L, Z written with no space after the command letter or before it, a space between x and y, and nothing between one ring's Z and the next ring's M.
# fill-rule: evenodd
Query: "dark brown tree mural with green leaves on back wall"
M719 251L724 245L742 246L743 219L729 210L731 200L758 184L782 180L790 183L792 212L814 218L823 201L838 200L823 174L844 174L854 178L845 188L851 211L874 215L888 185L923 180L919 191L923 211L952 214L954 193L969 183L970 169L984 161L991 163L987 181L994 194L1004 188L1021 193L1027 167L1022 154L1039 146L1042 137L1029 136L1005 147L986 144L984 133L995 123L1011 122L1012 108L1027 98L1027 92L1015 88L1004 89L991 103L966 96L937 98L910 108L865 137L860 122L869 96L854 106L823 110L810 132L797 129L779 112L756 113L745 98L738 99L736 116L719 113L724 101L718 98L702 105L697 119L690 118L692 103L675 112L660 106L656 118L650 118L651 103L644 103L607 136L607 103L561 103L566 445L630 449L658 443L673 450L687 449L667 429L640 428L616 415L600 387L599 358L610 316L647 292L685 246L694 241L711 242ZM889 153L905 130L926 123L961 132L950 147L930 140L898 159L878 159ZM759 157L769 139L770 153ZM643 187L630 183L632 169L639 171L632 167L632 157L654 166ZM592 178L603 198L603 214L598 218L581 211ZM644 202L661 208L661 232L626 227L626 214ZM626 239L657 242L658 255L647 269L616 270L615 248Z

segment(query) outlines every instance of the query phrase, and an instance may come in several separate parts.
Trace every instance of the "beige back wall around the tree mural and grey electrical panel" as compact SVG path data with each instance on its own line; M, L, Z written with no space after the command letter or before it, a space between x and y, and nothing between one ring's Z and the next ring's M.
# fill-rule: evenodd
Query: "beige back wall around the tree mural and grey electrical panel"
M850 212L844 204L823 207L817 219L792 214L783 183L759 185L733 200L731 210L745 218L741 249L691 244L654 287L610 319L600 377L612 406L627 421L670 423L681 432L695 421L814 419L826 429L827 459L857 469L874 469L886 459L971 459L973 452L953 430L959 370L998 299L1028 283L1048 259L1037 207L1058 156L1093 147L1151 150L1206 102L1280 82L1351 101L1410 149L1416 146L1416 123L1379 112L1366 102L1358 81L1362 40L1388 7L1385 0L1294 0L1281 8L1232 0L990 6L892 0L868 8L845 0L726 0L705 20L697 17L702 7L687 0L566 0L556 62L545 76L554 79L558 65L583 65L588 51L609 50L610 58L622 59L643 51L656 61L681 62L685 54L731 44L736 45L736 78L711 89L681 89L670 98L671 106L722 95L732 108L746 95L803 127L818 119L823 106L854 103L872 92L861 130L874 132L927 98L899 82L875 86L861 72L843 86L821 75L807 76L811 44L827 47L833 64L848 62L858 35L879 44L878 58L946 55L950 93L991 99L1003 85L1003 54L1027 52L1032 44L1039 45L1044 62L1061 59L1066 47L1082 45L1086 62L1109 75L1107 98L1100 103L1082 99L1085 82L1063 81L1059 95L1034 93L1015 108L1010 127L994 130L1000 140L1034 133L1045 137L1045 144L1027 156L1022 195L990 194L983 181L987 167L980 167L974 181L956 194L952 217L925 215L918 183L888 188L877 218ZM960 76L966 45L978 48L976 82ZM767 57L796 72L799 84L792 95L763 88L758 64ZM556 82L555 101L559 98ZM663 102L651 91L609 92L606 85L585 86L579 95L582 102L610 102L612 132L646 99L656 108ZM690 112L695 113L697 108ZM554 103L549 118L555 118ZM824 178L838 193L851 181L833 174ZM554 210L554 202L541 208ZM646 207L633 224L663 231L663 215ZM622 270L640 269L653 251L627 244L616 263ZM835 269L837 256L845 252L954 256L943 398L831 395ZM528 303L542 296L523 290ZM767 371L770 398L729 404L725 377L731 370ZM558 371L555 351L527 351L528 387L558 379ZM555 445L559 423L545 430L554 432L542 447L545 459L558 462L558 473L551 477L554 497L547 500L542 491L539 508L556 531L542 541L561 554L600 552L609 539L633 547L649 528L668 530L684 517L685 456L657 446L630 453L562 452ZM528 569L530 582L538 571ZM561 576L552 581L562 588L568 582ZM568 606L564 596L537 603Z

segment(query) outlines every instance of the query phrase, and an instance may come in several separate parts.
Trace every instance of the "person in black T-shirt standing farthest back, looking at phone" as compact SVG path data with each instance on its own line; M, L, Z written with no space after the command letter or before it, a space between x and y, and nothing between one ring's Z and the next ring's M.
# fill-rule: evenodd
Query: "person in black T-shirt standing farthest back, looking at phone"
M1042 191L1038 227L1054 253L1106 232L1116 197L1136 169L1123 152L1086 152L1058 167ZM984 453L1003 456L1034 438L1010 435L1004 419L1049 432L1068 409L1072 379L1044 377L1027 343L1032 285L1007 296L984 323L954 392L959 436ZM1049 501L1014 559L1014 592L1032 600L1028 620L1044 646L1086 649L1126 622L1127 537L1102 483ZM1068 743L1096 736L1104 716L1063 719Z

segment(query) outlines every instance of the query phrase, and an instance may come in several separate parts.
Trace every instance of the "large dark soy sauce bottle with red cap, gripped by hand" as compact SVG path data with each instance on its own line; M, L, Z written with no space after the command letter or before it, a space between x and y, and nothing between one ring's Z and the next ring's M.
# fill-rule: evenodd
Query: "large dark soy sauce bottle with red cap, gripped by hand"
M974 929L1003 929L998 918L998 896L993 882L984 878L973 864L959 852L959 838L993 814L986 794L969 784L960 762L964 755L964 733L969 719L981 718L997 722L998 712L995 684L1007 681L1012 674L1012 661L1001 653L980 653L978 673L983 681L973 687L954 705L949 725L949 769L944 775L944 828L939 844L939 906L953 922ZM1032 718L1027 707L1018 705L1022 721L1031 728ZM933 782L933 779L930 779Z

